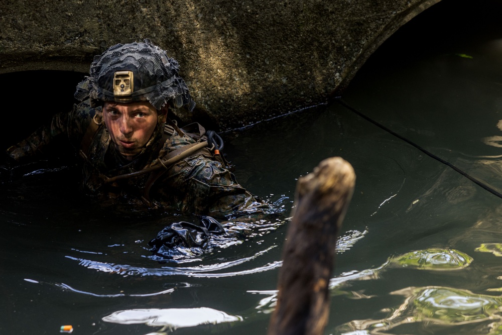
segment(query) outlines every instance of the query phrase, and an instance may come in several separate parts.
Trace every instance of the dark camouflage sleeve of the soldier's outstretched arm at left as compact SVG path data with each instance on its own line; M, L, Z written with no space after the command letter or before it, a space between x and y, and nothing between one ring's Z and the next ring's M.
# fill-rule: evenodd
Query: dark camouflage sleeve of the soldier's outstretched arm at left
M7 149L9 156L21 163L44 156L44 150L55 142L69 140L78 145L92 116L87 103L74 105L70 113L56 114L51 122L37 129L25 140Z

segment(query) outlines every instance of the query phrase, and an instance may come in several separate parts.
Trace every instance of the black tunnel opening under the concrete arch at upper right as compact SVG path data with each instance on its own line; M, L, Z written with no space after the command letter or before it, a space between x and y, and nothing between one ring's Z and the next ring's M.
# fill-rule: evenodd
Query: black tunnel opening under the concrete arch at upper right
M418 14L383 42L351 82L358 80L370 68L385 69L438 53L465 54L480 41L502 41L502 25L498 18L501 11L502 3L496 0L442 0Z

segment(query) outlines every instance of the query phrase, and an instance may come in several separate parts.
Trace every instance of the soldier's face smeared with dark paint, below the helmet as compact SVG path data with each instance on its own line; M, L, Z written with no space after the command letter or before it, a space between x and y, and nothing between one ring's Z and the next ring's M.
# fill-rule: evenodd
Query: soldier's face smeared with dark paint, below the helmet
M165 122L166 115L161 115ZM103 121L111 140L124 156L134 156L147 144L159 121L157 110L148 102L105 102Z

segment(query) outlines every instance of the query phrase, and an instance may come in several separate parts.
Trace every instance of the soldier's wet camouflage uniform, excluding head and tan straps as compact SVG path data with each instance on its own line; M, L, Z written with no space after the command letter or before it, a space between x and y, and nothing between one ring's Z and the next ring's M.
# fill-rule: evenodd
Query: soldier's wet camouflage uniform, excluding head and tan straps
M89 101L75 105L68 114L54 116L50 126L42 127L28 139L8 149L11 157L24 161L56 138L67 137L76 150L80 150L84 135L93 118L102 118L102 107L91 107ZM124 159L115 149L104 125L95 132L83 156L83 186L95 193L120 197L127 202L147 202L150 206L165 207L197 214L230 214L238 211L261 211L268 208L259 198L240 186L234 175L214 159L208 149L176 162L160 175L155 172L104 184L106 178L140 171L158 164L158 159L169 152L196 140L174 132L162 145L162 139L154 139L153 145L135 156ZM162 147L161 147L162 145ZM80 150L81 151L81 150ZM159 170L158 170L159 171ZM158 177L150 191L145 192L149 178Z

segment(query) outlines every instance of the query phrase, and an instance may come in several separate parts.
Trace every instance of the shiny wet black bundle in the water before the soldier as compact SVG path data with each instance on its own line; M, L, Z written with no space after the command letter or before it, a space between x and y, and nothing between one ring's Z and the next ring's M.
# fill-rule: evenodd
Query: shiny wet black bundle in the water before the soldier
M180 221L165 227L148 245L151 252L159 256L169 256L173 248L185 247L204 250L211 234L224 234L221 224L210 216L200 216L199 225Z

